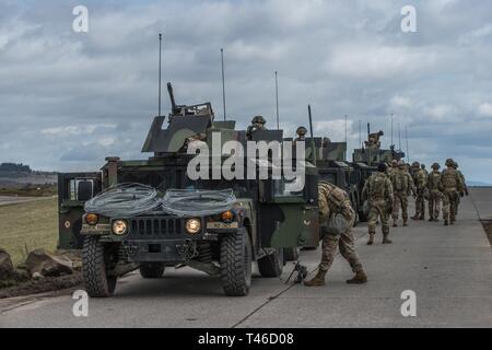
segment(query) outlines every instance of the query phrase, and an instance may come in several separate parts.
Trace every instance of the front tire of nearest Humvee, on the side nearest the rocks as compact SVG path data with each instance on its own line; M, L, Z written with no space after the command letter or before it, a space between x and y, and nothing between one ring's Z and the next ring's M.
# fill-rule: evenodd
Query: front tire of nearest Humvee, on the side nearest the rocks
M98 237L86 236L82 248L82 277L85 291L91 298L112 296L116 288L116 276L108 276L108 252Z

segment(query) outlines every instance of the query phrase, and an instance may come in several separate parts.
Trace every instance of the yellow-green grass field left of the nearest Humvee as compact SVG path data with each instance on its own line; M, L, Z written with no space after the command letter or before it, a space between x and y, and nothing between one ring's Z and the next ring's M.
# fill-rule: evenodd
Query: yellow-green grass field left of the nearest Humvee
M23 262L27 250L55 250L58 241L57 199L0 206L0 247L14 265Z

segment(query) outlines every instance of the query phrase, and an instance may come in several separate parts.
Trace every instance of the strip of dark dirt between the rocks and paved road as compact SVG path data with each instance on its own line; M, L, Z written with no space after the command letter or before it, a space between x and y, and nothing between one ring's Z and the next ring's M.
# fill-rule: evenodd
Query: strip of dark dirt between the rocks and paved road
M15 287L0 289L0 299L46 293L79 285L82 285L82 273L80 272L61 277L45 277Z

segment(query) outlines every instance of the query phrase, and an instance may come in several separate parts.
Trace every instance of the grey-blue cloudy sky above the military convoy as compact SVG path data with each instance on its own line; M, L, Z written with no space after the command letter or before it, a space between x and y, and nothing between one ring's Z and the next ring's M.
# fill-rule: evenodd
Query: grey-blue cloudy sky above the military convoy
M261 114L281 127L307 120L349 150L365 130L390 143L395 115L410 160L454 158L470 180L492 183L492 3L482 0L271 1L0 0L0 162L90 171L105 155L141 159L157 109L157 33L163 81L178 103L211 101L245 127ZM89 32L75 33L75 5ZM400 10L417 10L403 33ZM164 95L163 110L169 103ZM364 131L363 131L364 132Z

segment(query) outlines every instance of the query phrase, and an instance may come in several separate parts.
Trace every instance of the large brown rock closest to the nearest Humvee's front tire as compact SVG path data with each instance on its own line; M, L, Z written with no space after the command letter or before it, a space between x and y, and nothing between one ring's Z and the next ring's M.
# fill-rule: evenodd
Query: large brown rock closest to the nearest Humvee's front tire
M30 271L33 277L36 272L44 277L57 277L62 273L73 273L73 265L70 259L48 253L45 249L31 252L25 260L25 265L27 271Z

